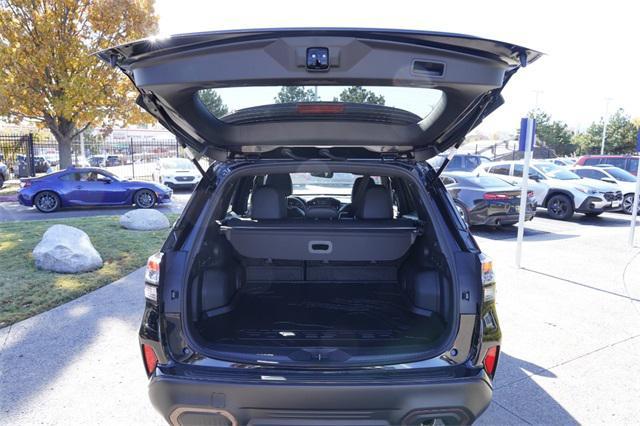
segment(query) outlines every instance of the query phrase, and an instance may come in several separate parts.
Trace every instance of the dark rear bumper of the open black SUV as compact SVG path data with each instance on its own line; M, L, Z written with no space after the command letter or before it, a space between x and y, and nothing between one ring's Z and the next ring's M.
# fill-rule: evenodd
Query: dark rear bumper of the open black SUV
M464 379L384 385L229 383L154 376L149 395L172 424L222 416L232 419L227 421L230 425L382 426L419 425L434 416L472 423L489 405L492 388L484 372Z

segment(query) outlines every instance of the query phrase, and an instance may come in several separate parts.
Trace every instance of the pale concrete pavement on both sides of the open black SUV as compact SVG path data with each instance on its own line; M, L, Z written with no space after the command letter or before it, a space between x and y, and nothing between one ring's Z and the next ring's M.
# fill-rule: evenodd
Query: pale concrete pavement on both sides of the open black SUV
M627 216L544 213L515 228L477 229L495 262L503 345L483 425L639 424L640 250ZM640 240L640 238L639 238ZM0 330L6 424L162 424L137 347L142 272Z

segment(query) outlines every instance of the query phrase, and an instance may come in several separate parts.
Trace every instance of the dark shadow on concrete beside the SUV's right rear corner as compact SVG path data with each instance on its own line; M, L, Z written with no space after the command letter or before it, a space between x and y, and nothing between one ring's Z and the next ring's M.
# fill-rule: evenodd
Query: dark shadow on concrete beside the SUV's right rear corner
M578 424L562 405L532 379L533 375L557 377L537 364L501 352L493 402L475 424Z

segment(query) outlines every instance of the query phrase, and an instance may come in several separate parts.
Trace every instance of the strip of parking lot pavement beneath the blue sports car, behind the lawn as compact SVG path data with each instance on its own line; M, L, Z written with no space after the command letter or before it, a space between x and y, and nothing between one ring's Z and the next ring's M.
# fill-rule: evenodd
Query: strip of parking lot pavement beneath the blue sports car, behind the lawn
M180 213L191 197L191 191L174 192L171 203L160 204L156 209L165 213ZM87 207L62 209L53 213L40 213L35 207L25 207L17 202L0 202L0 222L60 219L65 217L114 216L126 213L133 206Z

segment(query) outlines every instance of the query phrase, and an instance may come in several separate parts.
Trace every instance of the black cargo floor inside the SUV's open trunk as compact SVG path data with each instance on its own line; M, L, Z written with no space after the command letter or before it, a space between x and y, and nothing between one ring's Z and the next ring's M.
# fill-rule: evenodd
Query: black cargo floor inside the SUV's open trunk
M209 344L250 347L424 347L444 332L421 315L395 283L247 284L230 312L199 321Z

